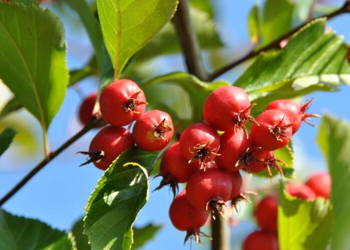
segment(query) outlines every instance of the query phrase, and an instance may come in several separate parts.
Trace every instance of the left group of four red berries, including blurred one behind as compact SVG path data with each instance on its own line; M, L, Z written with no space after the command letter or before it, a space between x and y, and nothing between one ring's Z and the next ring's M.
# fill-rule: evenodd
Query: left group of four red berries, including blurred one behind
M83 124L91 118L96 97L97 93L89 95L80 107L79 117ZM143 91L131 80L116 80L104 88L99 106L110 125L95 135L88 152L80 152L89 156L82 165L93 162L96 167L106 170L120 153L134 144L145 151L164 148L173 135L172 119L160 110L144 113L146 104ZM123 127L134 121L132 133Z

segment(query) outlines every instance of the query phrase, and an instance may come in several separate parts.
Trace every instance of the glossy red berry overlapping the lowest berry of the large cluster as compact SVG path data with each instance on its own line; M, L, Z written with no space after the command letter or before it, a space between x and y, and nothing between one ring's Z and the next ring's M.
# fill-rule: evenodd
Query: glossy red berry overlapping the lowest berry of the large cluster
M190 204L201 210L224 213L225 201L232 192L231 176L220 168L195 172L187 182L186 197Z

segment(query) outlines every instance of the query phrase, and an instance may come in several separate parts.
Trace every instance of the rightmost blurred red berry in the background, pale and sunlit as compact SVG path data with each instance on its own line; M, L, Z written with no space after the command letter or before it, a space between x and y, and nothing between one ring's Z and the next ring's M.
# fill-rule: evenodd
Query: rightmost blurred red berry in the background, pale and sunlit
M327 172L317 172L313 174L305 183L318 197L329 198L330 176Z

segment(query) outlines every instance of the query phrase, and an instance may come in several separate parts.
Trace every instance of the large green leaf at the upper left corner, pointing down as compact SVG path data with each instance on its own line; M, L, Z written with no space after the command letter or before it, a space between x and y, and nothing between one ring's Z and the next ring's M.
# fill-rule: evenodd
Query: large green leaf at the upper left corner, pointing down
M45 130L65 96L65 55L62 22L49 9L0 2L0 78Z

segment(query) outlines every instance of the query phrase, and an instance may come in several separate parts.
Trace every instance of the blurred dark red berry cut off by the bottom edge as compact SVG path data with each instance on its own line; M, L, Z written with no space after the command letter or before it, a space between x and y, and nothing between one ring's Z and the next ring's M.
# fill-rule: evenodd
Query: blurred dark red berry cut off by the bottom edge
M278 250L278 238L274 232L254 231L243 242L243 250Z

